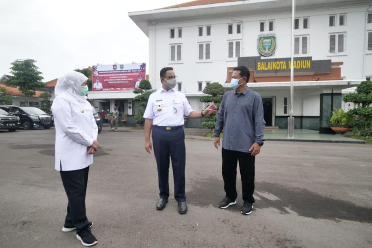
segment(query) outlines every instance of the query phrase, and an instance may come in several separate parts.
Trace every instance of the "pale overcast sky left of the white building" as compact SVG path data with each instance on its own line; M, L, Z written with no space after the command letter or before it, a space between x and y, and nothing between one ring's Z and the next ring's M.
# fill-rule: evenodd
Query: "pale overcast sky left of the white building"
M187 1L0 0L0 77L26 58L44 82L97 63L148 64L148 38L128 12Z

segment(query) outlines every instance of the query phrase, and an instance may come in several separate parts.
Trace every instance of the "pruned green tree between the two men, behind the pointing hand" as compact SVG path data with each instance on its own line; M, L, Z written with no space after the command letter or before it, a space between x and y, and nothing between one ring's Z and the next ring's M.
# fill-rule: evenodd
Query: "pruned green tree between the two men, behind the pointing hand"
M225 93L224 87L220 83L211 83L208 84L204 90L204 94L209 96L200 97L200 101L203 103L215 103L217 107L221 104L222 95ZM213 113L210 116L203 117L202 127L210 128L212 131L216 126L217 114Z

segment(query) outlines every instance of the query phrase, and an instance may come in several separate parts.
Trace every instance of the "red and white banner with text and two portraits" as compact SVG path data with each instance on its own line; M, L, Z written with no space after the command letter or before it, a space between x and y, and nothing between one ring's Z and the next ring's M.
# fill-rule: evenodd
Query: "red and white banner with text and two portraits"
M93 91L134 90L146 78L146 64L92 66Z

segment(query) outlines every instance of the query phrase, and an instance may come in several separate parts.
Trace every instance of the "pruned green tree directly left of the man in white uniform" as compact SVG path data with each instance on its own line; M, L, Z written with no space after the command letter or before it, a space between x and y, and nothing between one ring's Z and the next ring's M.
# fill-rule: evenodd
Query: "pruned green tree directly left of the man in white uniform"
M136 114L134 115L134 119L138 124L142 124L145 120L143 114L145 113L148 98L153 92L154 91L151 90L151 83L148 80L142 80L138 89L133 91L134 94L137 94L133 100L136 104Z

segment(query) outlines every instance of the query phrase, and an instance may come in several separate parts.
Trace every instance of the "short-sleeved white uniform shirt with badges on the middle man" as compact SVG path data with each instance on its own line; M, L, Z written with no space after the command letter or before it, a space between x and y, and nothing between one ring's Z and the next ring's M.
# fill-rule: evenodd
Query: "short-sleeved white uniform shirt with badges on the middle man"
M185 124L183 116L193 112L185 94L170 89L161 88L150 95L147 107L143 115L146 119L152 119L153 125L157 126L182 126Z

